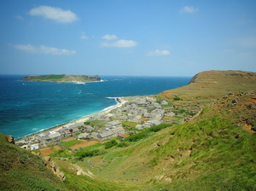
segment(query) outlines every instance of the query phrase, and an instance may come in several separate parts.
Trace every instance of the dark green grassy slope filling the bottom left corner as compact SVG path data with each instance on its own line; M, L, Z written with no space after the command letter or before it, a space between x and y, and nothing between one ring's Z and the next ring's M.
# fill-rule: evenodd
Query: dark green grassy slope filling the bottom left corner
M0 190L65 190L41 158L7 142L0 134Z

